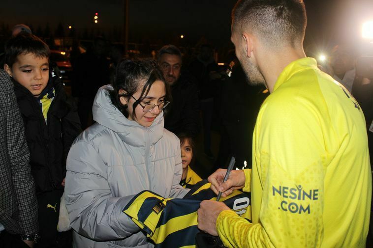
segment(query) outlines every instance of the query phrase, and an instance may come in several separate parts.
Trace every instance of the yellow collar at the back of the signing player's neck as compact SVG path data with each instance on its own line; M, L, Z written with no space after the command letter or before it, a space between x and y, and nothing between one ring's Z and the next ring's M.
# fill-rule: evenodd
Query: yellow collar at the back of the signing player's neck
M279 78L277 79L273 91L280 87L282 83L288 81L294 74L303 71L304 69L315 69L319 70L317 67L316 59L311 57L304 57L297 60L294 60L288 64L285 69L281 72Z

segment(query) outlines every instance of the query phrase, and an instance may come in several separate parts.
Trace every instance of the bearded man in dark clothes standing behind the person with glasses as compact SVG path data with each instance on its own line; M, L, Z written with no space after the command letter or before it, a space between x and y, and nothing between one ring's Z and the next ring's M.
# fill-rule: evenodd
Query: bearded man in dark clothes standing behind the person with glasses
M172 133L187 133L194 137L199 132L197 85L187 71L182 73L182 54L179 48L174 45L163 46L158 52L158 65L172 93L164 127Z

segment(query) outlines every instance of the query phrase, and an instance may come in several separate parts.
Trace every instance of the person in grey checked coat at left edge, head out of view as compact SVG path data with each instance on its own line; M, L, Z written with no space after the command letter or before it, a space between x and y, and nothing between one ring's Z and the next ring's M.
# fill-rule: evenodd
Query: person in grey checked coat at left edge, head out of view
M39 231L30 153L13 83L0 69L0 244L34 247Z

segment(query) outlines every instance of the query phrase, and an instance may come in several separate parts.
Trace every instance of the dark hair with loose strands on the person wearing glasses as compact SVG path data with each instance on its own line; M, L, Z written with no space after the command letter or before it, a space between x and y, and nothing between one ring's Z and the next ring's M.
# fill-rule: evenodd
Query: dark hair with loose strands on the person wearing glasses
M163 78L162 72L159 70L154 60L137 60L122 59L117 66L116 79L113 83L113 90L109 92L111 102L117 107L126 118L128 118L128 106L123 105L120 101L121 97L127 100L140 88L140 81L146 80L139 99L133 104L133 117L136 117L135 108L148 95L150 87L155 81L162 81L166 87L166 100L171 101L169 87ZM126 93L120 94L119 90L123 89Z

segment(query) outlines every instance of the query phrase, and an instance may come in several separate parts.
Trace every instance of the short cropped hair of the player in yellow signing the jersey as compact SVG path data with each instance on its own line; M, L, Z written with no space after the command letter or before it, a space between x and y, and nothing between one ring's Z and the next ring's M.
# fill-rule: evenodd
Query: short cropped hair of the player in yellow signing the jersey
M232 10L232 31L249 28L272 46L296 46L303 41L306 25L303 0L239 0Z

